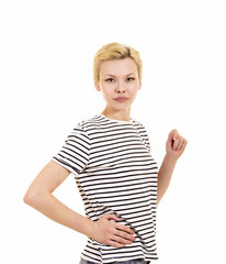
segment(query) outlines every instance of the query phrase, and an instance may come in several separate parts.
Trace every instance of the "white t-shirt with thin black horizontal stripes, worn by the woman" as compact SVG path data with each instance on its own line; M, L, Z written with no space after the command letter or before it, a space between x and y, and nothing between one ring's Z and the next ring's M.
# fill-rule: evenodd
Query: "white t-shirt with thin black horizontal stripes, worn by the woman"
M143 124L103 114L80 122L67 138L55 162L75 174L86 216L97 221L115 213L135 231L135 241L114 248L88 239L83 260L112 263L157 260L157 164Z

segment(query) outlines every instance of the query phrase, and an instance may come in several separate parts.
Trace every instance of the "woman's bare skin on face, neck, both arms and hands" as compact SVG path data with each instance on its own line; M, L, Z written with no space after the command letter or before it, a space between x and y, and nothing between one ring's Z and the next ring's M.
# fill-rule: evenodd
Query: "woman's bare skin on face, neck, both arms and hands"
M103 62L100 67L100 79L94 81L94 86L106 101L102 114L110 119L129 120L131 107L142 87L137 66L132 58ZM117 97L127 99L117 101L115 100ZM157 205L170 184L176 163L185 146L187 140L177 130L172 130L167 139L166 155L158 174ZM134 231L118 223L121 219L115 215L104 215L94 222L71 210L53 195L69 174L69 170L50 161L29 187L24 202L49 219L100 243L115 248L133 243Z

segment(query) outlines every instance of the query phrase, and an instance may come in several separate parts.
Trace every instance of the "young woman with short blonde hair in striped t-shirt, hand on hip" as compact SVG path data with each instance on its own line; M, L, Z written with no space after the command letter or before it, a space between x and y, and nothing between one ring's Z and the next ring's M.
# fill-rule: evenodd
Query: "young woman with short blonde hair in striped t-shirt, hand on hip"
M36 176L24 201L89 238L81 264L150 263L158 258L157 205L187 140L176 130L169 133L158 172L144 125L131 119L142 87L142 59L136 50L118 43L104 45L94 57L93 76L105 109L76 125L59 153ZM53 195L70 173L87 217Z

